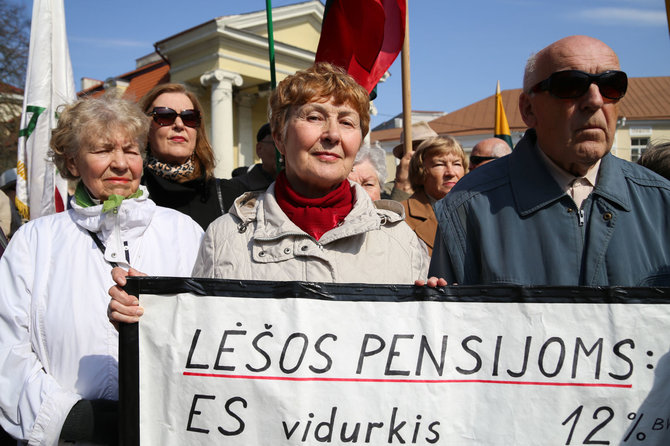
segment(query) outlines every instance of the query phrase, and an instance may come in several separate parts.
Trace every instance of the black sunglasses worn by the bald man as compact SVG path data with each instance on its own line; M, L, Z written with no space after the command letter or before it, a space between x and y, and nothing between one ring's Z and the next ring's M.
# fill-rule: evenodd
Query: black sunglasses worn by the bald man
M590 74L580 70L557 71L531 88L533 93L548 91L559 99L576 99L586 93L591 84L596 84L600 94L618 101L626 94L628 76L623 71L603 71Z

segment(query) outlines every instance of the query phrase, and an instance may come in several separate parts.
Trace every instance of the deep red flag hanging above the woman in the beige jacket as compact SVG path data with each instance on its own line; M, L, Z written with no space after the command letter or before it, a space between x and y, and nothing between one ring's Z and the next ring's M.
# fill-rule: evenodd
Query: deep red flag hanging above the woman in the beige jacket
M328 0L315 62L344 68L372 92L405 39L405 0Z

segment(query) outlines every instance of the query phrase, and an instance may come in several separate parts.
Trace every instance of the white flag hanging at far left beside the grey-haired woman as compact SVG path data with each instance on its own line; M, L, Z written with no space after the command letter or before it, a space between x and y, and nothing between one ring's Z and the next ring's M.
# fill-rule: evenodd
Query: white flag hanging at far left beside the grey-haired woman
M63 0L34 0L16 181L16 204L25 218L65 208L67 182L47 153L59 106L76 98Z

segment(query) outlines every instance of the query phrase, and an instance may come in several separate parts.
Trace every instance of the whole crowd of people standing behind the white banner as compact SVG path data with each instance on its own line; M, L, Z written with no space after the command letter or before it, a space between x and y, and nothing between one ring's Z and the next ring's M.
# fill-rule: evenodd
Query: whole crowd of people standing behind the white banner
M420 123L390 183L363 144L367 91L327 63L279 83L260 163L232 179L214 177L183 85L68 105L51 154L78 181L70 208L23 225L0 259L0 425L29 444L113 444L113 324L144 312L129 275L670 286L668 145L641 165L609 153L627 84L605 43L561 39L526 65L513 151L490 138L468 157Z

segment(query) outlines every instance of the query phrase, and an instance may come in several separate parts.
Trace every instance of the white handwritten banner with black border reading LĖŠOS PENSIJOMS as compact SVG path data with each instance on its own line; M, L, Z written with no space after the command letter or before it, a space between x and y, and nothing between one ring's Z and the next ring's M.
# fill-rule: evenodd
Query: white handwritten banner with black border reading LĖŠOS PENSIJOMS
M136 280L143 445L670 444L669 289Z

